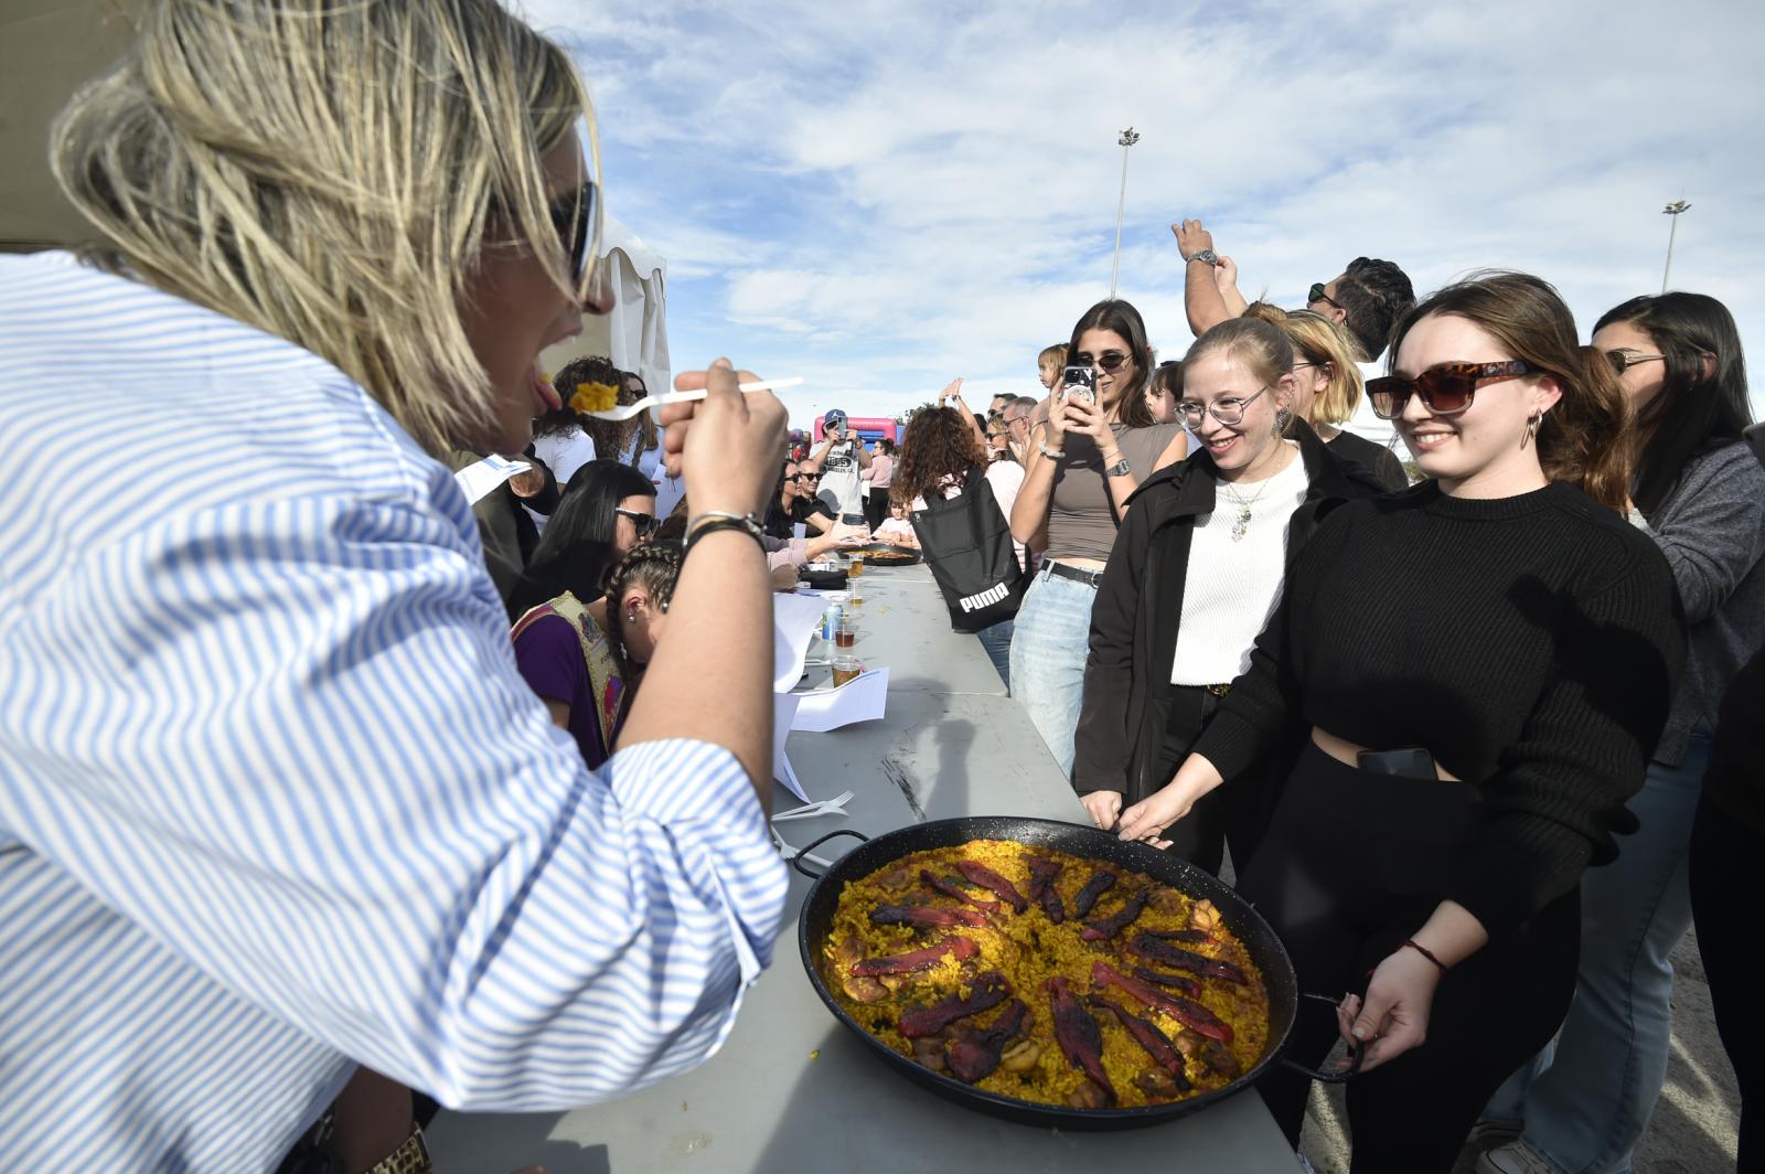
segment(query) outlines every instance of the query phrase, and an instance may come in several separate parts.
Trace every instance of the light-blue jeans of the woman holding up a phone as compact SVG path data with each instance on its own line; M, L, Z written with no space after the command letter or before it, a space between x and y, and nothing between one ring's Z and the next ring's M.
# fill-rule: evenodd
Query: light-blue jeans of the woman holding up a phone
M1085 694L1085 653L1091 650L1091 604L1096 588L1048 574L1050 563L1029 584L1011 634L1011 696L1059 763L1073 773L1073 736Z

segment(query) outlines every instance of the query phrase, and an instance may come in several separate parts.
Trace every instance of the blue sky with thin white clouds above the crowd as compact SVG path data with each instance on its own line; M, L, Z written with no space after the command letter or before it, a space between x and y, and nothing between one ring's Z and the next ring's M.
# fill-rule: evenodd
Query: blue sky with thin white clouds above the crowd
M598 106L609 208L669 261L676 369L801 374L792 422L895 413L1108 293L1190 342L1170 222L1299 305L1359 254L1419 291L1553 281L1583 325L1723 298L1765 369L1765 5L600 4L526 0ZM1756 376L1758 380L1758 376ZM1754 395L1765 413L1765 395Z

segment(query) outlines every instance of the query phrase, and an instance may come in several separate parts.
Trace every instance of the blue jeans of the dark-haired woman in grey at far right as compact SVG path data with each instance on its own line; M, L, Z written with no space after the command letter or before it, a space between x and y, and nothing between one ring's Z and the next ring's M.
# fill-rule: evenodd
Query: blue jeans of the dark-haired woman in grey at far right
M1525 1140L1567 1174L1624 1174L1666 1082L1673 964L1691 927L1686 863L1710 738L1679 766L1650 763L1629 801L1641 821L1619 858L1581 877L1581 966L1557 1040L1483 1110L1523 1121Z

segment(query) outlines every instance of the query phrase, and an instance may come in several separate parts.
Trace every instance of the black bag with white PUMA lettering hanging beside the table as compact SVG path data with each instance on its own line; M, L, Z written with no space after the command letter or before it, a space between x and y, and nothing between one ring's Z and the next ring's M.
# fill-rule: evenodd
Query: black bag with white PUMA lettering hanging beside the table
M944 593L951 628L980 632L1017 614L1029 576L1017 561L1011 524L978 468L953 498L934 489L925 508L913 512L913 531Z

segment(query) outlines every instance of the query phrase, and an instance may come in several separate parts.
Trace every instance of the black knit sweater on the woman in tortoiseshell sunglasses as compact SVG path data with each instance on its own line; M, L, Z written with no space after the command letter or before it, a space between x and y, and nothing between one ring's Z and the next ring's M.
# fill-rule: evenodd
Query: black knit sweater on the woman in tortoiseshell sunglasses
M1611 510L1562 484L1479 501L1430 482L1326 519L1195 750L1230 786L1294 727L1426 747L1483 789L1447 897L1493 937L1636 830L1624 803L1682 662L1666 560Z

